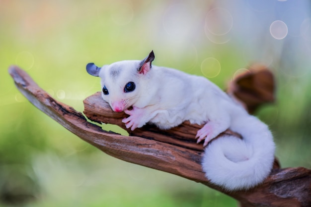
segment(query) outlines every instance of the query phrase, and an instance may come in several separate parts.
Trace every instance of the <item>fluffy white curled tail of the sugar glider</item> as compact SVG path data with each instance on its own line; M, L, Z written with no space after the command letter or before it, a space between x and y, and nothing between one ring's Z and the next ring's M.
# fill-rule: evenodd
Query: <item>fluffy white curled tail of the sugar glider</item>
M268 126L256 117L241 114L230 129L243 139L226 136L214 140L205 149L203 170L214 184L228 190L249 189L270 173L275 145Z

